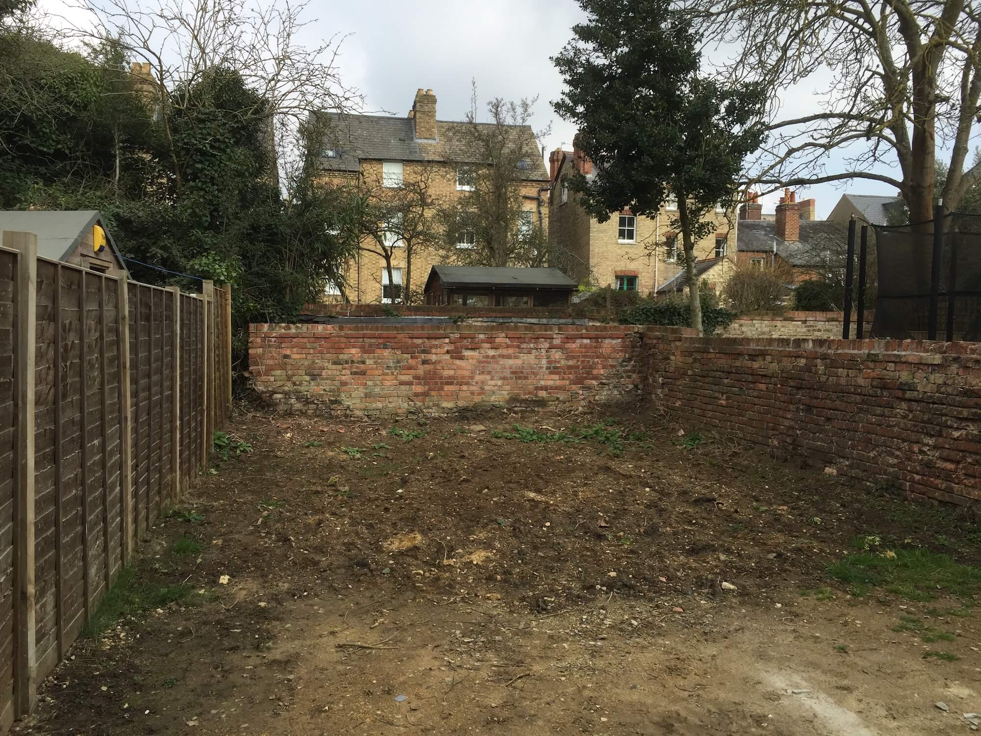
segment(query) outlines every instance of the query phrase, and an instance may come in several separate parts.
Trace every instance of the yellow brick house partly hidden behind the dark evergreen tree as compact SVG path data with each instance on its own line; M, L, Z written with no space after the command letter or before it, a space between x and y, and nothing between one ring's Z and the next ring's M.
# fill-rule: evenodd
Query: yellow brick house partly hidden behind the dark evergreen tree
M613 213L605 223L591 218L579 204L579 195L566 185L577 172L594 176L593 163L578 146L571 152L556 148L548 156L548 239L555 250L568 251L569 275L581 284L637 290L647 295L683 290L684 270L677 254L684 251L680 234L671 231L677 204L668 200L654 217L638 217L629 210ZM696 243L697 271L711 263L711 286L721 290L736 256L736 213L715 211L714 232ZM716 260L719 259L719 260ZM721 261L727 263L722 264ZM722 266L715 268L716 265ZM718 278L716 278L718 277ZM676 289L675 289L676 288Z

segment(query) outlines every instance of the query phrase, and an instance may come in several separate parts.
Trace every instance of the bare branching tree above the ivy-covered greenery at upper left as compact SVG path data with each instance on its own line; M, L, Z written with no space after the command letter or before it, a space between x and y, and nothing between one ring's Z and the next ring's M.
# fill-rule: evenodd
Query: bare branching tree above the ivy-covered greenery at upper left
M84 21L70 31L82 40L114 39L129 61L142 64L136 81L154 107L170 143L172 173L180 189L185 162L174 144L176 111L206 106L197 93L221 72L237 75L258 104L238 111L261 120L284 162L299 162L297 131L311 112L351 112L362 102L340 79L336 57L342 36L305 46L299 35L314 23L308 0L77 0Z

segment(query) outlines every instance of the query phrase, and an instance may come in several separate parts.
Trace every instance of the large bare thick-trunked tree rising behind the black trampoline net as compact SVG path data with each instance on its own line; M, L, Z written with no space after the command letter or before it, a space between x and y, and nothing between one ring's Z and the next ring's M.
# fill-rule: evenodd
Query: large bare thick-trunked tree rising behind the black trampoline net
M683 0L706 41L735 48L723 66L768 84L771 137L752 170L783 185L864 179L896 186L913 223L932 219L936 157L955 209L981 180L966 164L981 94L981 7L964 0ZM816 80L816 81L815 81ZM816 108L784 116L779 94L814 92ZM795 92L797 94L798 92ZM843 149L844 167L829 165ZM895 173L888 171L892 167Z

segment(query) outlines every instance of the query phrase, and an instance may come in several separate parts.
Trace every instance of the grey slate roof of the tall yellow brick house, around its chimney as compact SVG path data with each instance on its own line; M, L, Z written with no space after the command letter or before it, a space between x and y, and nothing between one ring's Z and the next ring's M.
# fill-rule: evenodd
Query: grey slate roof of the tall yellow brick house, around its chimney
M465 131L469 124L438 120L437 140L417 140L411 118L385 115L340 115L321 113L330 121L325 133L324 149L336 151L335 158L321 155L321 166L327 171L355 173L361 161L430 161L481 163L479 151L473 150ZM479 124L490 127L490 123ZM542 152L531 126L508 126L528 155L529 168L523 179L547 182L548 173Z

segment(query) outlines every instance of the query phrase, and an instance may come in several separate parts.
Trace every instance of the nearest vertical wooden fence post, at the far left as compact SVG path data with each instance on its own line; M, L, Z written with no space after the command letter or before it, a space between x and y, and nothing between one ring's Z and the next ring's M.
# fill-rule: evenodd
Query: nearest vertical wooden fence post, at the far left
M36 697L34 651L34 362L37 331L37 237L4 233L17 258L17 338L14 350L17 401L17 490L14 496L14 705L26 715Z

